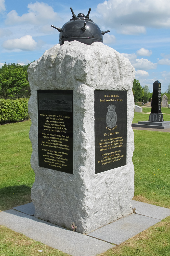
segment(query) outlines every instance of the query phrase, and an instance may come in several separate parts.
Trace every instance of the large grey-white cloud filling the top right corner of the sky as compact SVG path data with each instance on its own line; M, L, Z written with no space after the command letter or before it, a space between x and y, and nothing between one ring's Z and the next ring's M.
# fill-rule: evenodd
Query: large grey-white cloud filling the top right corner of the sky
M103 25L123 34L145 33L146 27L170 28L167 0L108 0L98 4L97 13Z

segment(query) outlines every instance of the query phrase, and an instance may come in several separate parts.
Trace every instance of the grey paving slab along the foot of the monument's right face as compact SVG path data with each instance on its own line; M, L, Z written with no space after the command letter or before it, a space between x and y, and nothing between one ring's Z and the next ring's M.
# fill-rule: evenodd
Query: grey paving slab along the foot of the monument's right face
M90 232L88 235L118 245L159 221L160 219L130 214L109 225Z

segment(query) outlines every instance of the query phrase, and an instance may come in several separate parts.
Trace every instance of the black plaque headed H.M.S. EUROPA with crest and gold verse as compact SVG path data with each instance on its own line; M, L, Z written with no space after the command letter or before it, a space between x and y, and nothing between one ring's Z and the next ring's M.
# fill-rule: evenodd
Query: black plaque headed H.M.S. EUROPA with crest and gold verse
M127 91L95 90L95 174L126 165Z

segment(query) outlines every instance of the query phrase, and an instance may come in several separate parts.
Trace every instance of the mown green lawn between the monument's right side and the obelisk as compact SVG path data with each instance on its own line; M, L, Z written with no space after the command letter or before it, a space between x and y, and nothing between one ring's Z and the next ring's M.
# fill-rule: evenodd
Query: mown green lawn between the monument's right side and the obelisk
M170 133L134 130L136 200L170 208Z

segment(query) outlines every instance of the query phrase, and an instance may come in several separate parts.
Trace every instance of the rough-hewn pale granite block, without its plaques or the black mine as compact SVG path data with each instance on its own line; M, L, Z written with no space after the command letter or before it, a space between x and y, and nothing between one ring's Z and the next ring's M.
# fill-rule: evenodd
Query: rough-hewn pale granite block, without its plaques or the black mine
M28 69L31 87L31 198L34 217L89 233L132 213L134 195L134 67L100 43L64 42L45 51ZM74 90L74 175L38 166L37 90ZM94 90L127 90L127 165L95 174Z

